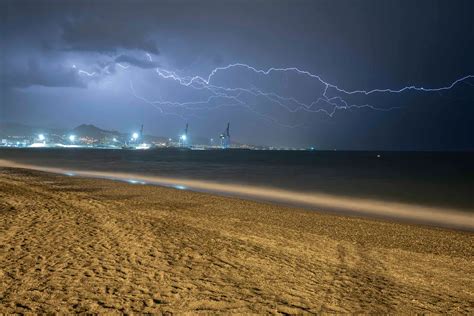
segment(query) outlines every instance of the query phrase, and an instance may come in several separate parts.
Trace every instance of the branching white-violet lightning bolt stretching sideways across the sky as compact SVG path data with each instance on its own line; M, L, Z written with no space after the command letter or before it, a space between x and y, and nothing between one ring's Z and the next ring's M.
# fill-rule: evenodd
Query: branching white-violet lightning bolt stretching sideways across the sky
M148 61L152 62L153 58L149 53L145 53ZM123 65L115 63L122 69L128 69L130 65ZM77 69L74 65L73 68ZM230 87L225 85L218 85L216 76L219 73L230 73L232 70L241 69L247 71L249 74L262 76L271 79L271 76L279 73L291 73L297 76L303 76L309 80L314 80L316 84L322 86L321 94L311 102L303 102L296 96L282 96L273 91L263 91L255 86L252 87ZM258 69L251 65L244 63L234 63L223 67L214 68L207 76L180 76L174 71L166 70L164 68L155 68L154 71L160 79L172 80L179 86L188 89L194 89L208 94L208 97L202 100L193 100L186 102L168 101L168 100L149 100L137 94L133 82L130 81L130 90L132 95L137 99L153 106L163 114L176 115L185 119L188 116L196 116L195 112L202 110L215 110L222 107L240 107L259 117L276 123L284 127L300 127L303 124L288 125L280 122L272 115L260 112L257 110L257 102L250 102L249 98L262 99L265 102L274 104L284 111L289 113L308 112L308 113L322 113L329 117L333 117L339 110L357 110L367 109L371 111L392 111L400 109L400 107L379 107L372 104L353 104L349 101L350 97L363 96L368 97L375 94L402 94L413 91L420 93L442 92L453 89L460 83L465 83L469 86L472 84L468 81L474 78L474 75L466 75L452 83L438 88L426 88L418 86L405 86L399 89L384 88L372 90L346 90L336 84L325 81L320 75L313 74L307 70L302 70L297 67L277 68L271 67L268 69ZM78 69L78 73L93 77L98 75L96 72L87 72ZM184 114L166 111L165 108L181 110Z

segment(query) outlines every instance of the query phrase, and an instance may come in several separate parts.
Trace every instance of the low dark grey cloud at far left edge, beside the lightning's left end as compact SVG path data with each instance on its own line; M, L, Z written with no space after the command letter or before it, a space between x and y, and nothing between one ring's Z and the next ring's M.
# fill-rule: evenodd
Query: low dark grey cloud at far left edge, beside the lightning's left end
M77 70L62 65L42 66L37 60L30 59L25 66L9 67L4 74L6 87L28 88L43 87L86 87Z

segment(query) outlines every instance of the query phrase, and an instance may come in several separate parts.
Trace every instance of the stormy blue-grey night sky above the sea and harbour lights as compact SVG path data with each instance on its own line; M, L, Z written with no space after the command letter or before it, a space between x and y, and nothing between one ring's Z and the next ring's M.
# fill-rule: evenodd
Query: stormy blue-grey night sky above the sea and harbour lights
M473 75L472 0L0 6L1 121L123 132L144 124L167 137L186 122L191 134L216 137L230 121L232 138L251 144L474 149L474 77L441 91L350 93ZM321 80L222 69L235 63Z

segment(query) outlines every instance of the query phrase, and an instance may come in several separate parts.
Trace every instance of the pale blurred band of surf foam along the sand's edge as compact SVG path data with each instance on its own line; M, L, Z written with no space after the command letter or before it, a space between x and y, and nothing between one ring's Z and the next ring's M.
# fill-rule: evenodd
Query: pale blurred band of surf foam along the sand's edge
M282 189L257 186L243 186L202 180L146 176L140 174L83 171L42 167L1 160L0 167L24 168L38 171L60 173L90 178L105 178L126 181L132 184L154 184L174 187L180 190L205 191L250 199L295 204L314 209L337 209L344 214L365 215L373 217L394 218L413 223L429 224L439 227L474 231L474 213L462 212L457 209L429 207L416 204L387 202L375 199L353 198L323 193L301 193Z

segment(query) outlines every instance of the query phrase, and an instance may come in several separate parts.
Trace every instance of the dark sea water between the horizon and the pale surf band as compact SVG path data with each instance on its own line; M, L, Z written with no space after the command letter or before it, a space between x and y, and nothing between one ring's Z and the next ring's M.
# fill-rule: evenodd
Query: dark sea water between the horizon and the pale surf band
M474 211L474 152L3 148L0 159Z

